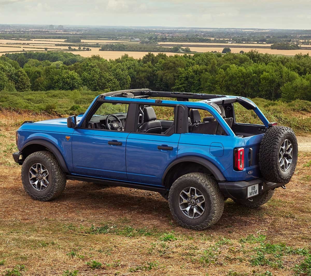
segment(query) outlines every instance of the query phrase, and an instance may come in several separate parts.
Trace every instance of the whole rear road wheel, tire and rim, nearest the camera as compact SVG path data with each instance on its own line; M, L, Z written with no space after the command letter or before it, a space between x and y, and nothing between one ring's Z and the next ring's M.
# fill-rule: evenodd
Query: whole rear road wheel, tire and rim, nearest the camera
M188 173L169 190L169 209L183 227L202 230L215 224L224 211L224 196L214 177Z

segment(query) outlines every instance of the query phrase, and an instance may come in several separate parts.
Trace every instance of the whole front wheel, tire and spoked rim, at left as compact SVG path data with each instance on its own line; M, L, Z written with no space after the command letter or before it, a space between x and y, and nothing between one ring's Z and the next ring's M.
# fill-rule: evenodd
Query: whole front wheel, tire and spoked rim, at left
M66 174L49 151L27 156L21 168L21 180L27 194L41 201L58 197L66 186Z

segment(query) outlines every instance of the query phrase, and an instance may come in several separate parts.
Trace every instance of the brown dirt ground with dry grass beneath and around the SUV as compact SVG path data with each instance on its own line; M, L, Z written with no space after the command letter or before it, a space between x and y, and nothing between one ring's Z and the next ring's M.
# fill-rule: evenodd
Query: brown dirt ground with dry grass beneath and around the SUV
M11 157L27 119L43 118L0 113L0 274L311 275L309 134L286 190L253 210L227 200L215 226L192 231L156 192L68 180L58 199L32 200Z

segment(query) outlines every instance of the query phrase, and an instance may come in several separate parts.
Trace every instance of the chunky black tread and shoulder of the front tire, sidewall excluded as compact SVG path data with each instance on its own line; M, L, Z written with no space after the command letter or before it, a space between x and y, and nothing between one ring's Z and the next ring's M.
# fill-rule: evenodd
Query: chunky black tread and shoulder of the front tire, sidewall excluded
M23 177L21 177L25 191L32 199L35 199L35 200L48 201L48 200L53 200L57 198L59 195L62 194L66 186L66 173L64 173L61 167L59 166L57 159L49 151L36 151L32 154L29 154L29 156L27 156L27 158L25 159L22 165L21 176L23 176L24 174L26 164L28 163L27 161L30 160L31 158L43 159L47 161L48 163L50 163L52 170L53 170L54 181L53 183L49 183L49 185L52 184L52 189L47 195L35 196L31 193L31 190L28 189L29 186L27 186ZM28 181L28 179L26 179L26 181Z

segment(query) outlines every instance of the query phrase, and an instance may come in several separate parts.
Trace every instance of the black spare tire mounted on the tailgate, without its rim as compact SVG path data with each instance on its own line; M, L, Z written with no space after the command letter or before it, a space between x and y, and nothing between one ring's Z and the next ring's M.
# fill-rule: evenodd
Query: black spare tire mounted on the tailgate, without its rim
M296 163L294 164L294 170L288 177L282 177L278 173L278 162L275 161L275 157L279 154L279 146L283 137L291 133L294 137L297 145L297 138L294 131L290 127L274 126L269 127L264 134L259 148L259 168L262 176L273 183L288 183L294 174ZM298 150L297 150L298 154Z

